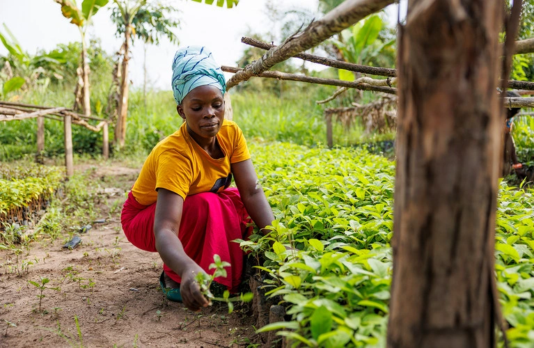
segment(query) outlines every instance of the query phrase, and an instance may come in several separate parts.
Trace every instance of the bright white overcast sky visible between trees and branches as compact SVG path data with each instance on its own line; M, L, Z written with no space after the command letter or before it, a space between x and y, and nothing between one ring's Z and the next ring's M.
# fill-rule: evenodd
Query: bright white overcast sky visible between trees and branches
M78 0L81 3L81 0ZM112 3L113 1L110 1ZM253 32L274 30L272 22L265 15L266 3L280 6L298 6L312 13L317 12L317 0L240 0L234 8L219 8L186 0L168 0L172 6L180 8L180 29L173 32L180 40L180 46L203 45L210 48L221 65L236 66L236 61L248 46L241 37ZM110 5L93 17L93 25L88 29L88 38L99 38L102 48L109 54L116 52L122 43L116 38L116 29L109 19ZM388 15L396 20L396 7L388 8ZM19 41L22 49L36 54L38 49L54 49L59 43L79 42L77 26L61 15L61 6L54 0L0 0L0 24L6 24ZM2 33L6 33L3 26ZM171 62L176 49L167 40L159 45L147 45L146 64L148 85L152 88L170 89ZM6 49L0 45L0 55ZM134 88L143 85L143 43L136 41L132 47L129 78ZM226 74L226 73L225 73ZM231 74L226 74L226 79Z

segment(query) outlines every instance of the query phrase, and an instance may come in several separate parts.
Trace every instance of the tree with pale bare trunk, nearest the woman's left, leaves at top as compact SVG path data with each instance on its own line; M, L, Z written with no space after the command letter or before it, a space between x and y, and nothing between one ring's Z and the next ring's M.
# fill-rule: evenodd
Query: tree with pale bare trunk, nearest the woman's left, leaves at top
M202 0L194 0L196 2L202 2ZM214 0L205 0L205 3L211 5ZM145 17L137 17L138 22L134 24L134 19L138 15L141 9L148 6L152 6L147 0L113 0L117 6L117 15L115 22L118 24L118 31L123 31L124 40L123 47L120 49L120 54L123 56L123 60L120 64L120 87L118 98L118 119L115 127L115 145L118 148L122 148L125 145L126 140L126 125L128 116L128 63L129 63L129 45L132 42L132 34L135 35L136 29L141 28L146 34L145 38L150 35L164 35L168 36L172 33L165 24L164 18L160 18L157 21L160 26L153 25L146 22L147 19L155 19L156 17L150 14L150 11L141 14ZM217 0L217 6L223 6L226 3L228 8L232 8L237 5L239 0ZM161 5L155 3L152 9L162 8ZM118 15L120 13L120 15ZM148 16L148 17L147 17ZM122 28L122 29L121 29ZM143 38L143 36L140 36Z

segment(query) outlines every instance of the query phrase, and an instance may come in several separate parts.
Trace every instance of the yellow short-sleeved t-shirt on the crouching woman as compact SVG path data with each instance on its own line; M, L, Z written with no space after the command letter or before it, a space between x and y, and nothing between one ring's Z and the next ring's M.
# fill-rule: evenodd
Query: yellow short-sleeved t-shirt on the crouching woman
M132 194L142 205L157 200L157 189L168 189L182 198L201 192L219 192L232 181L230 164L250 159L241 129L224 120L217 141L224 157L213 159L189 136L185 122L178 131L157 143L141 168Z

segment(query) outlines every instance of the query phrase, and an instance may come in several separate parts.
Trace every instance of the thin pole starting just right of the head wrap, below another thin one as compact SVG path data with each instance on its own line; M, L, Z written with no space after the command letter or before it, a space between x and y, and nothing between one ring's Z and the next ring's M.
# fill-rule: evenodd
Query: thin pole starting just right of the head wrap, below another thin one
M226 65L221 66L221 70L224 72L233 72L235 74L242 72L242 68L233 68ZM363 82L357 82L357 81L342 81L342 80L336 80L336 79L324 79L322 77L309 77L306 75L298 75L298 74L288 74L287 72L279 72L279 71L266 71L261 72L260 74L254 75L255 77L267 77L268 79L281 79L281 80L289 80L289 81L300 81L300 82L307 82L308 84L321 84L321 85L327 85L327 86L340 86L340 87L348 87L348 88L356 88L361 90L374 90L375 92L383 92L383 93L389 93L389 94L395 94L396 89L391 87L385 87L385 86L373 86L369 83L363 83ZM371 81L384 81L380 82L380 84L387 84L386 79L384 80L374 80L374 79L368 79L367 82Z

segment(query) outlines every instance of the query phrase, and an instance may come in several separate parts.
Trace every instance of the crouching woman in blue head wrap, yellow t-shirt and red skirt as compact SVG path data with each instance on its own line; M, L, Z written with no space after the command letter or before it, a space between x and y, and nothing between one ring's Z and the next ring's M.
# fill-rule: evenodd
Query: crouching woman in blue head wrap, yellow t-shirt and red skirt
M209 305L195 280L213 255L230 262L217 283L235 291L249 216L258 228L274 220L241 129L224 119L226 82L205 47L184 47L173 61L173 94L185 121L150 152L123 207L128 240L157 251L164 262L160 283L168 299L190 310ZM237 189L229 188L235 180Z

